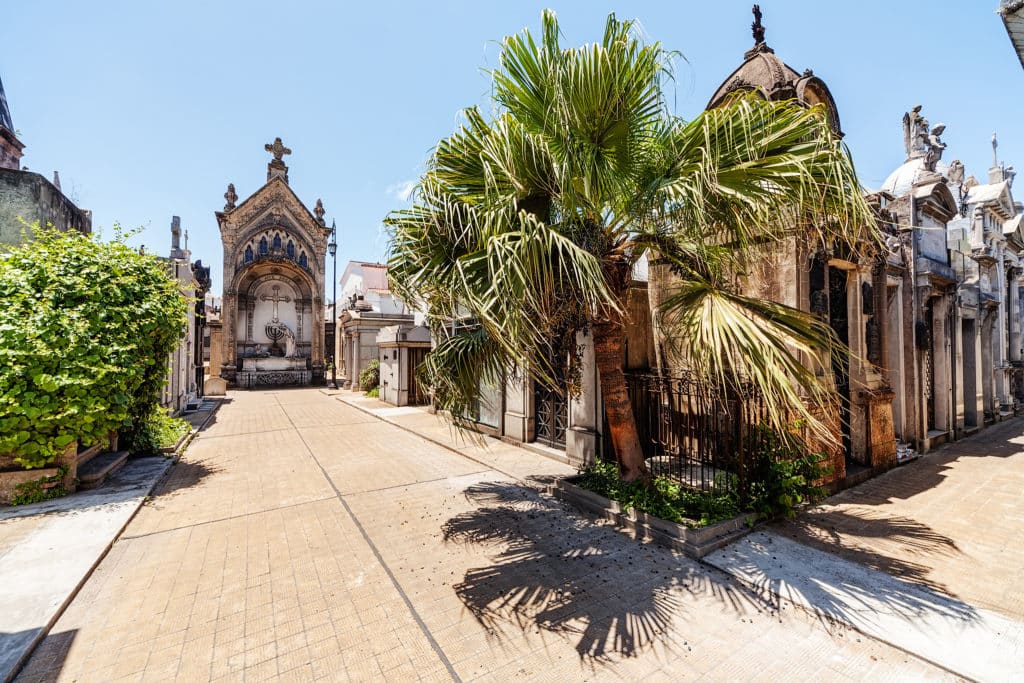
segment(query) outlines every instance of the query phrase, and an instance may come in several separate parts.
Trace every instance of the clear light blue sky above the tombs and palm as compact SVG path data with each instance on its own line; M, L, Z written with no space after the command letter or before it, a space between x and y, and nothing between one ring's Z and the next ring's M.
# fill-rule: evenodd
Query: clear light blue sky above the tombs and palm
M916 103L947 126L944 161L984 181L997 131L999 159L1024 170L1024 70L996 0L760 4L775 53L828 84L866 186L902 163L900 120ZM151 251L168 251L181 216L219 292L213 212L228 182L241 198L264 182L275 136L293 151L292 187L338 222L339 272L383 259L383 217L406 205L459 112L485 101L501 38L537 32L544 7L565 45L599 39L614 11L679 50L670 101L684 118L753 44L751 3L734 0L20 1L0 23L0 78L25 165L59 170L106 234L115 221L144 227L134 242Z

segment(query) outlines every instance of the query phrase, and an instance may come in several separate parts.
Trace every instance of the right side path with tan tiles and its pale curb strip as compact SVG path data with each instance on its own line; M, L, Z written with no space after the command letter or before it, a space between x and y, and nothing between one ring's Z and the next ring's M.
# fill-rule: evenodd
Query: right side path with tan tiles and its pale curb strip
M977 680L1024 680L1024 420L706 558L764 595Z

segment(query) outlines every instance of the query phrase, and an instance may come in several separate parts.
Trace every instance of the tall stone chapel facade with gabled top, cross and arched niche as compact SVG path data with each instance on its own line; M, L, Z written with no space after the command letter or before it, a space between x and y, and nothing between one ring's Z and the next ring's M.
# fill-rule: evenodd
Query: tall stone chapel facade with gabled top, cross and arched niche
M241 204L234 185L216 212L224 249L220 375L228 385L324 383L324 281L331 228L288 184L276 138L266 183Z

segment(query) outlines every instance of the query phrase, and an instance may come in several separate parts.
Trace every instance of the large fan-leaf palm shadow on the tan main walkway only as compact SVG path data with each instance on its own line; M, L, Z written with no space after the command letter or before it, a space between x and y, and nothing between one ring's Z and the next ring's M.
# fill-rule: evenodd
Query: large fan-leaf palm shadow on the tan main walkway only
M498 546L485 567L454 586L488 633L513 624L577 640L581 659L633 657L670 637L687 590L707 572L666 549L651 550L557 501L508 483L481 483L466 497L480 507L449 519L445 542ZM722 586L730 601L754 602ZM702 590L701 586L699 590ZM680 641L681 642L681 641Z

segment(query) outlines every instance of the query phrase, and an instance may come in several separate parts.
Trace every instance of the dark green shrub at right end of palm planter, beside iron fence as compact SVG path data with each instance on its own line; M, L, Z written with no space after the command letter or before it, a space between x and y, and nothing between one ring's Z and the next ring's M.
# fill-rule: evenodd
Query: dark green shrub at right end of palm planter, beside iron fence
M815 485L828 469L823 453L807 453L798 439L780 436L760 426L752 441L757 443L750 472L749 506L764 517L794 517L797 507L821 499Z

